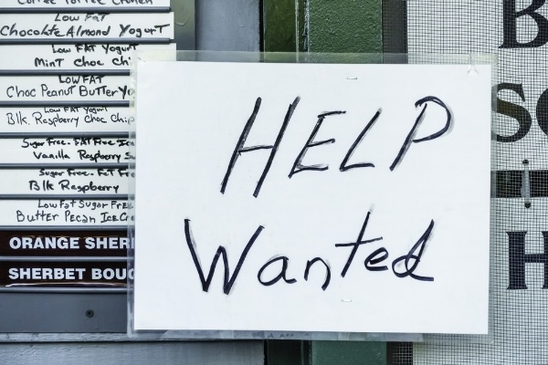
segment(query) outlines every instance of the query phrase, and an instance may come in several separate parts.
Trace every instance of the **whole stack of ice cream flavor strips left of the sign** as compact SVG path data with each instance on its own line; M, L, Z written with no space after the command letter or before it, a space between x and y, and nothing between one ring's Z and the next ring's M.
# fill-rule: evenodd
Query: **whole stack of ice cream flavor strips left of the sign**
M175 49L169 10L166 0L0 4L0 290L132 278L129 69L135 50Z

